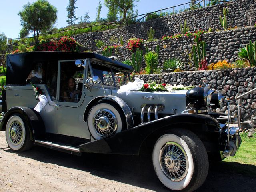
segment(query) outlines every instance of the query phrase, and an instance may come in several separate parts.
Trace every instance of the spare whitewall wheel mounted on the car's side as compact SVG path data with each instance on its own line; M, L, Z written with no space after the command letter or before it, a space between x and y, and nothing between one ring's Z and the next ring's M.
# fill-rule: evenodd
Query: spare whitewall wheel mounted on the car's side
M89 112L87 122L94 139L118 133L126 124L119 106L110 101L101 101L94 105Z

